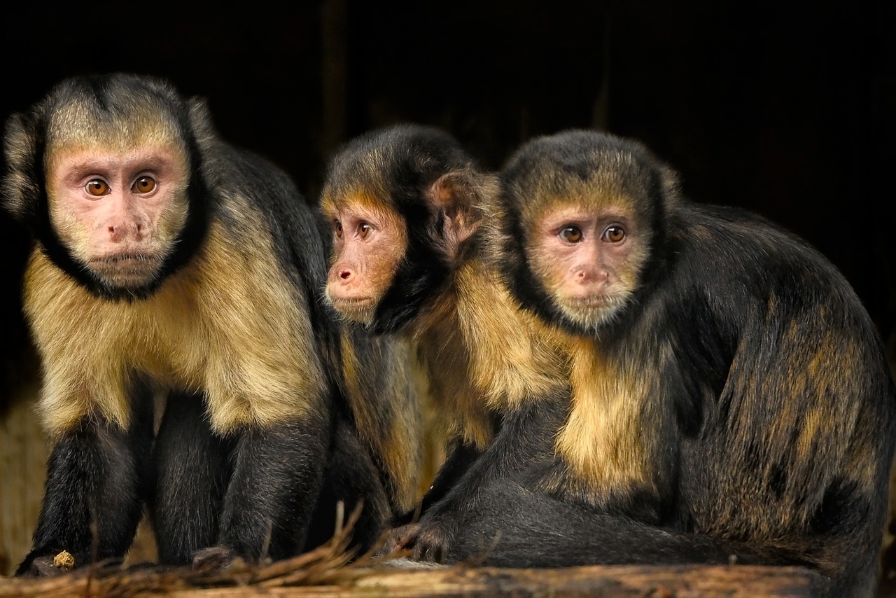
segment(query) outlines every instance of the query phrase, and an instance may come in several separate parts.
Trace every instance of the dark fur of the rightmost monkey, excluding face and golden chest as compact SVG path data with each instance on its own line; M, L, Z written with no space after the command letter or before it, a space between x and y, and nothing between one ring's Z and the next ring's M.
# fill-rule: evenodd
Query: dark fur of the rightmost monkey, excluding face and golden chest
M557 456L480 490L449 560L485 550L487 564L514 567L804 564L830 577L824 594L872 595L896 391L849 283L769 221L679 198L674 174L639 143L566 132L526 143L504 168L498 251L517 298L564 330L575 326L526 264L521 206L599 170L615 172L653 227L633 299L596 338L607 360L661 381L672 420L643 429L662 439L660 493L589 496L564 482ZM664 343L672 359L657 360Z

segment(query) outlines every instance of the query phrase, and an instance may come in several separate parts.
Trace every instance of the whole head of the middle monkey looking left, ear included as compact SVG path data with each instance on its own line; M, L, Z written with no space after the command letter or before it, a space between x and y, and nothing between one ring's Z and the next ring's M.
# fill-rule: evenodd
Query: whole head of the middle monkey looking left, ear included
M321 194L335 238L327 298L375 334L408 331L442 292L495 186L434 128L353 139L329 161Z

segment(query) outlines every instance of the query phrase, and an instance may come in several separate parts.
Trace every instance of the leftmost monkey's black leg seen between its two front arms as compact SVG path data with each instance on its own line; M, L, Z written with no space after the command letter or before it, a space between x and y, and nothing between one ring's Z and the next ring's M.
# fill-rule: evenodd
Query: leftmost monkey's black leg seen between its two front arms
M159 563L183 565L218 538L233 442L215 436L202 394L172 393L153 450L151 518Z

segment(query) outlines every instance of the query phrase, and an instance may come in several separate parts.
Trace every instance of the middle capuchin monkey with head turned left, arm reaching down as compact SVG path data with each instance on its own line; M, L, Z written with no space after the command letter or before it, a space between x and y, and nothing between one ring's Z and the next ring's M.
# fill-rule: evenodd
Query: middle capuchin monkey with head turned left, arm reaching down
M477 489L553 455L566 417L568 375L552 335L485 259L478 231L496 191L493 175L429 126L358 136L328 163L326 298L378 338L413 343L448 438L432 487L394 521L383 552L442 559Z

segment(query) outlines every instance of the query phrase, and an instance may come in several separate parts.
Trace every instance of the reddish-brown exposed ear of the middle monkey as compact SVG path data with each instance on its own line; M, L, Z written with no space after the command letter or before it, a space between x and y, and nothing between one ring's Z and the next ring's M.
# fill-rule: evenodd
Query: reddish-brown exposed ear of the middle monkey
M496 181L477 173L452 171L429 187L433 212L444 214L444 250L449 260L457 256L461 243L476 232L484 203L494 193Z

